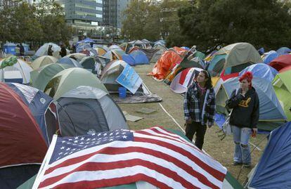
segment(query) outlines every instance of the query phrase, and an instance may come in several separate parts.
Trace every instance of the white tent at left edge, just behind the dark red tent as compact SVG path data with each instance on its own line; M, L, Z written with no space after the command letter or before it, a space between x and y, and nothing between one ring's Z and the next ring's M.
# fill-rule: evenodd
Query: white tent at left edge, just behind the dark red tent
M0 66L4 60L0 60ZM0 81L9 82L8 79L20 79L20 83L29 84L30 72L32 72L32 67L30 67L30 65L28 65L24 60L17 59L17 63L4 67L4 69L0 69Z

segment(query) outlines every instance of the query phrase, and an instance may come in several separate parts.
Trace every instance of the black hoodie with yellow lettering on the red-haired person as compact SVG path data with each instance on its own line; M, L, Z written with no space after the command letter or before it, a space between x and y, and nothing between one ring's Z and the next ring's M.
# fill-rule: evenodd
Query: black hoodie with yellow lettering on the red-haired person
M226 101L228 108L233 108L230 124L238 127L257 128L259 121L259 97L252 87L245 97L241 94L242 89L231 93L231 98Z

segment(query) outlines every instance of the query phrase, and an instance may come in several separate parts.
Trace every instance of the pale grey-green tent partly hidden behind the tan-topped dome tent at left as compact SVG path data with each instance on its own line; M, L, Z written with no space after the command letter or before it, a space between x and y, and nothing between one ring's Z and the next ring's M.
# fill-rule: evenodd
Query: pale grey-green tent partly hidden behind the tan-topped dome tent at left
M35 88L44 91L46 85L58 72L61 72L67 68L72 67L67 64L58 64L53 63L45 65L44 67L39 67L39 69L30 72L32 78L32 86Z

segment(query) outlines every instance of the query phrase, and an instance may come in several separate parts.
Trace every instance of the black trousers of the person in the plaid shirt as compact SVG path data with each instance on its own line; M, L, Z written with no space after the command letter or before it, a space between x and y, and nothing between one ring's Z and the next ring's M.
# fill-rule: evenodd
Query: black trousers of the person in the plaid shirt
M193 136L196 133L195 145L202 150L202 145L204 143L204 136L206 133L207 126L202 125L200 122L192 122L191 124L186 124L186 137L192 141Z

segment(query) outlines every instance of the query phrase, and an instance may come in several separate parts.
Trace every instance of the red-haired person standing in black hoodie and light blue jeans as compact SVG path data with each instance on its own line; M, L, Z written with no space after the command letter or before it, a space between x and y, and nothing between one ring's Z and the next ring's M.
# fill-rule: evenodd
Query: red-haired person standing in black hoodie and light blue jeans
M233 108L230 124L233 129L235 152L233 165L251 165L249 139L250 134L257 134L259 121L259 98L252 87L252 72L245 72L240 79L240 89L231 93L231 98L226 101L228 108Z

